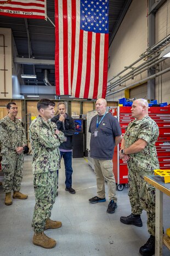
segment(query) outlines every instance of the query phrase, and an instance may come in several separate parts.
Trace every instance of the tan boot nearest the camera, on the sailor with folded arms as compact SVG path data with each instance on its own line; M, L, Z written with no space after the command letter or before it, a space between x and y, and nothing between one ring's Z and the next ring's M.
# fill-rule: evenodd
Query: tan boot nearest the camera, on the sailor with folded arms
M36 246L41 246L46 249L50 249L56 246L56 241L53 238L46 236L44 232L35 233L33 235L32 242Z

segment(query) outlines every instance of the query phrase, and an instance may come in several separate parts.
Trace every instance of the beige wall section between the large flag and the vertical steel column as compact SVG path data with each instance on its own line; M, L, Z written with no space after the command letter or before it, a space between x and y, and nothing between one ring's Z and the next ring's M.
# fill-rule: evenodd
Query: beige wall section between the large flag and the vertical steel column
M129 66L136 61L141 53L148 48L148 0L134 0L129 7L126 16L124 17L120 28L109 48L110 69L108 72L108 80L114 75L117 75L124 67ZM141 64L143 61L137 63ZM135 66L137 67L137 66ZM128 73L124 72L122 75ZM123 83L130 85L136 81L145 78L147 73L143 73L135 79ZM114 79L112 81L116 81ZM114 90L121 89L120 87ZM107 100L118 100L124 97L124 91L107 97Z

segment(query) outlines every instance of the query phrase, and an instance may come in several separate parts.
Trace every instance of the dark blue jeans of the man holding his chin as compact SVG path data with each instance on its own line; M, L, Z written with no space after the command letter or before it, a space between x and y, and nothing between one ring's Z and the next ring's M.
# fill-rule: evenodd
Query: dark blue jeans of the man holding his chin
M60 151L61 158L63 156L65 165L65 186L70 188L72 186L72 152L62 152Z

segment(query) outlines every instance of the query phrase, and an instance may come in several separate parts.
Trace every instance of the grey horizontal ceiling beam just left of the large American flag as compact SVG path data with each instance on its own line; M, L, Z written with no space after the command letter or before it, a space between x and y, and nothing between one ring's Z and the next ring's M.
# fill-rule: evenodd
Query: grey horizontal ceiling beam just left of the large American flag
M14 58L14 63L17 64L32 64L32 65L54 65L55 61L52 59L34 59L34 58Z

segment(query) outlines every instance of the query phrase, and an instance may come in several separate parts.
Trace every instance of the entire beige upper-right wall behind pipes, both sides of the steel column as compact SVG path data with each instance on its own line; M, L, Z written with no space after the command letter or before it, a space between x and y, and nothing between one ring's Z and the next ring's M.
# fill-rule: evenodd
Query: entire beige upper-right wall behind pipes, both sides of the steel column
M155 15L155 43L161 41L170 34L170 4L166 1ZM170 44L169 44L170 46ZM124 17L120 28L109 48L110 69L108 71L108 80L121 72L125 66L129 66L136 61L141 53L148 48L148 0L133 0L126 16ZM162 48L163 50L163 48ZM142 62L140 62L142 63ZM137 67L139 63L134 65ZM156 72L170 67L170 58L160 63L156 67ZM128 72L131 69L128 69ZM126 74L124 72L123 74ZM122 75L123 75L122 74ZM122 85L131 85L148 76L144 72L134 80L129 80ZM117 78L118 79L118 78ZM116 81L114 79L112 81ZM156 78L155 99L158 102L168 102L170 104L170 72ZM116 87L116 91L121 87ZM117 101L124 97L124 91L106 97L107 100Z

